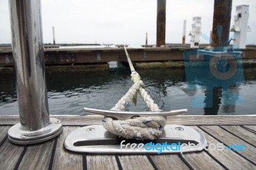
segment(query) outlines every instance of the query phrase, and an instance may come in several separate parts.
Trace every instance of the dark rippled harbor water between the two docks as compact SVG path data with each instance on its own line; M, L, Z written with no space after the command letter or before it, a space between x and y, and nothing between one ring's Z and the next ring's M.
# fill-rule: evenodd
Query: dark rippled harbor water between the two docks
M107 71L70 71L46 73L49 111L51 115L88 115L83 107L110 110L132 86L129 67L110 62ZM254 115L256 101L256 69L244 69L244 82L228 88L239 97L228 103L230 96L221 87L212 90L212 106L207 107L207 89L188 88L184 69L138 69L146 90L164 111L188 109L188 115ZM15 77L0 74L0 115L19 115ZM209 89L208 89L209 90ZM148 111L138 95L126 111ZM200 99L198 101L198 99ZM195 104L195 101L200 104Z

